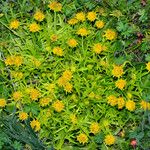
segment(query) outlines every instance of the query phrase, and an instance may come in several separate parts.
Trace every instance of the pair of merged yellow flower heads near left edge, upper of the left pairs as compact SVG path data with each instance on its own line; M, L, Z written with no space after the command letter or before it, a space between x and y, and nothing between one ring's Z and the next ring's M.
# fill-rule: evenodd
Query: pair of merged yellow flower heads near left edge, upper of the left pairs
M15 55L12 55L12 56L8 56L6 59L5 59L5 64L8 66L8 65L15 65L17 67L19 67L20 65L22 65L23 63L23 58L22 56L15 56Z

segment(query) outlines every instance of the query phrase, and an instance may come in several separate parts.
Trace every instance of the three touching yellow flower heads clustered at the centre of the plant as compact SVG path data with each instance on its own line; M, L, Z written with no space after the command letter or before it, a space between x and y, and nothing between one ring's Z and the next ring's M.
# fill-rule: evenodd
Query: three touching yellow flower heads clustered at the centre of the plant
M72 79L72 72L70 70L66 70L63 72L63 75L58 79L58 85L64 87L66 92L71 93L73 86L69 81Z

